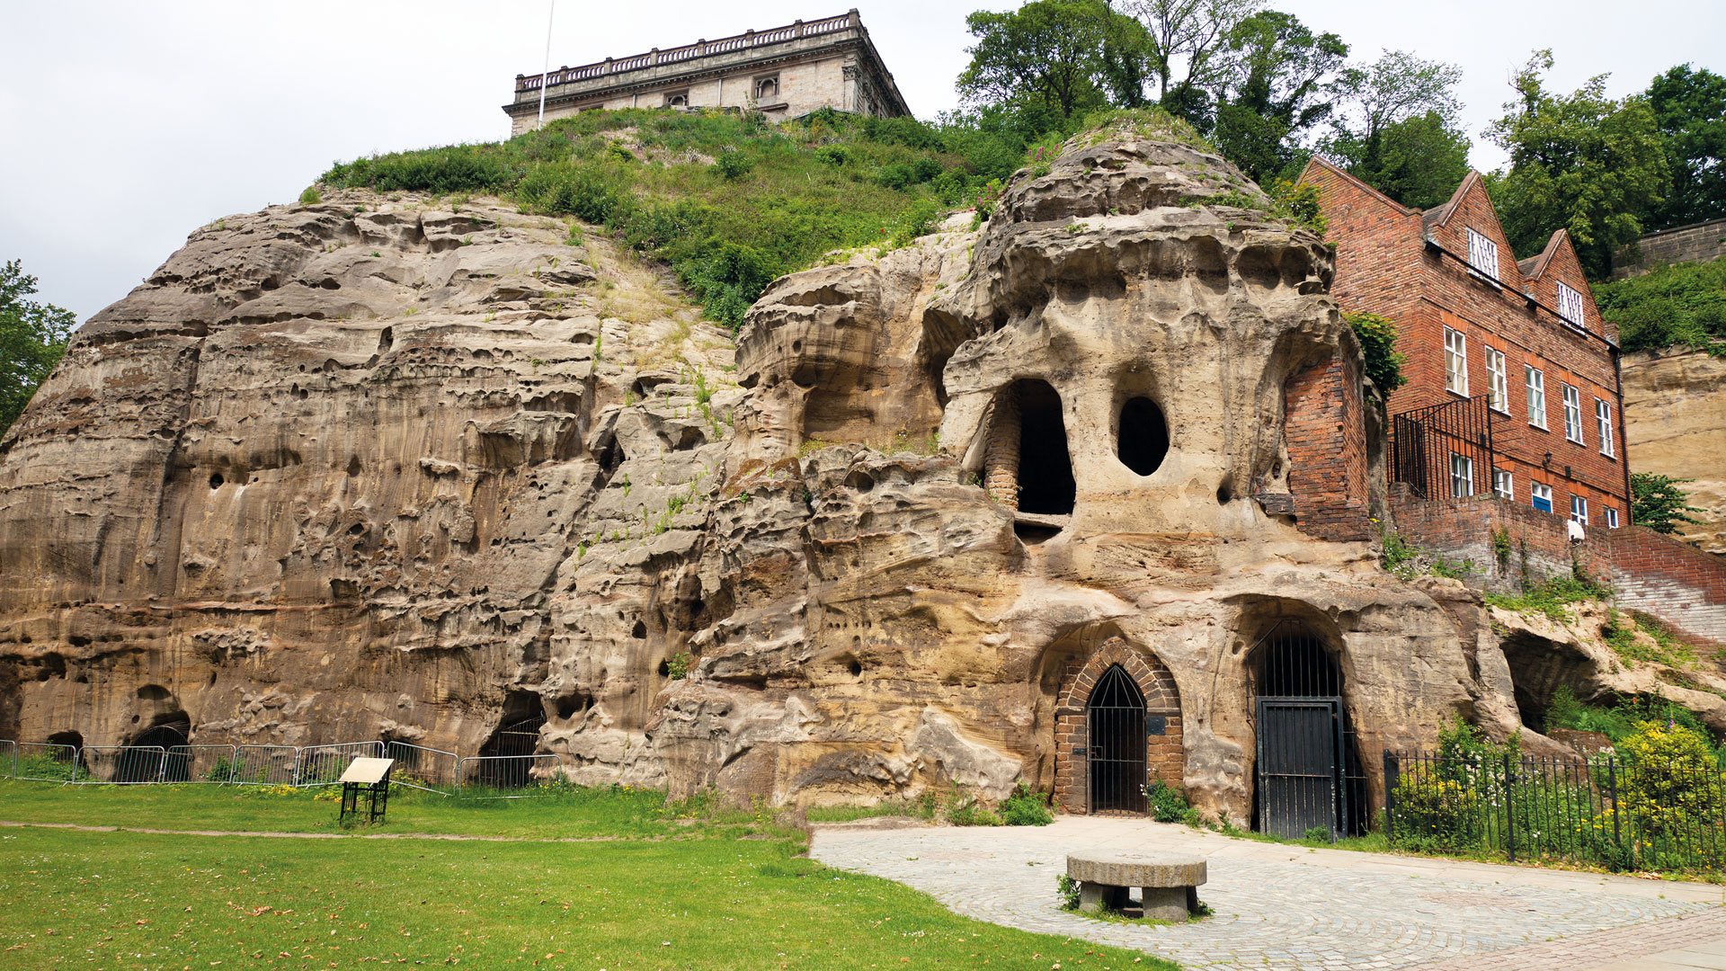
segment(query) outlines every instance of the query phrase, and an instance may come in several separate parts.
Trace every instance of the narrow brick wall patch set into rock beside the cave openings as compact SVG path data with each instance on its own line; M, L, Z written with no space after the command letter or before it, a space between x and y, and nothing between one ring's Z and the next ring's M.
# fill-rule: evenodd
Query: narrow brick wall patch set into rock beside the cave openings
M1282 441L1294 524L1319 539L1372 539L1367 508L1367 423L1360 377L1341 354L1282 385Z

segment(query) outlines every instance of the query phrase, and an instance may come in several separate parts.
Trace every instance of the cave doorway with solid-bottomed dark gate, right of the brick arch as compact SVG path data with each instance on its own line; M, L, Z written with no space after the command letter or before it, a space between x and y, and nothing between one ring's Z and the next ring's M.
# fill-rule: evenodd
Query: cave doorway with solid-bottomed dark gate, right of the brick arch
M1260 833L1300 838L1367 831L1367 779L1343 703L1343 670L1312 627L1277 620L1253 646L1258 665Z

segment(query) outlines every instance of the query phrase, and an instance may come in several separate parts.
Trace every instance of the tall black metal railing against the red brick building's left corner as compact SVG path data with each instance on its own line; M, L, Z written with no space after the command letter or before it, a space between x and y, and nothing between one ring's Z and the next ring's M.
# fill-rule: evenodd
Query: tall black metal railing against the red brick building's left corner
M1391 415L1391 480L1422 499L1491 494L1496 458L1490 394Z

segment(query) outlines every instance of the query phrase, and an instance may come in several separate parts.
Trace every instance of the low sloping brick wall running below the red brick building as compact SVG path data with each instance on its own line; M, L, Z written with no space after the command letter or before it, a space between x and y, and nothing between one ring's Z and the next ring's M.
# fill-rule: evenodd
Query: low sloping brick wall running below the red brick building
M1726 558L1643 529L1588 529L1571 543L1564 517L1486 496L1422 501L1391 492L1396 530L1450 562L1472 560L1469 584L1515 593L1569 575L1572 563L1612 586L1614 601L1666 620L1691 639L1726 643ZM1503 532L1500 556L1493 534Z

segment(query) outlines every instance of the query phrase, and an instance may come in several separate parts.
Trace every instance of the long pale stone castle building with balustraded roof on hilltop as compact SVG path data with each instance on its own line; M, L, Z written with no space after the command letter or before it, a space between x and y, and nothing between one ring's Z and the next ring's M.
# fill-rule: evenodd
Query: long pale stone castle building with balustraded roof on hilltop
M875 117L911 114L856 9L549 74L516 74L516 97L504 105L511 135L539 124L542 93L545 121L602 107L735 107L772 121L823 107Z

